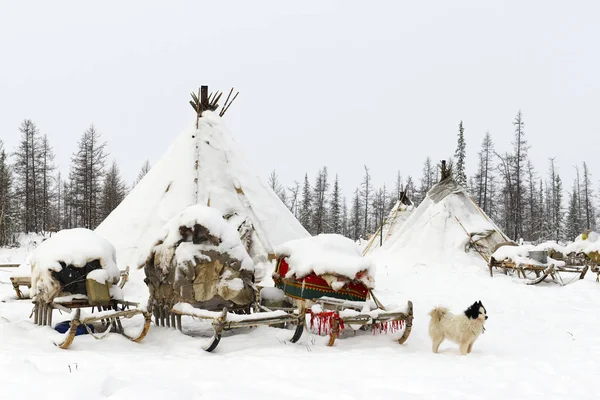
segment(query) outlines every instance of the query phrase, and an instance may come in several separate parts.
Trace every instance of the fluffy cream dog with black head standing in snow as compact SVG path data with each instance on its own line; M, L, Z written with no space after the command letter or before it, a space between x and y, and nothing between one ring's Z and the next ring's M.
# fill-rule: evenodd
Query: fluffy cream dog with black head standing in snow
M488 318L481 301L473 303L462 314L452 314L445 307L436 307L429 315L429 336L433 352L437 353L440 344L444 339L448 339L460 345L462 355L471 352L473 343L485 330L483 324Z

